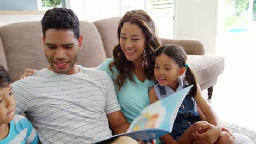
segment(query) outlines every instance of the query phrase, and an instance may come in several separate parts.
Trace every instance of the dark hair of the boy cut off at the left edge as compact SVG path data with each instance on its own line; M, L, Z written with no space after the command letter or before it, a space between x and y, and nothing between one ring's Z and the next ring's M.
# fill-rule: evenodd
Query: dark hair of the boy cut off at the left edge
M11 77L7 70L0 65L0 87L8 87L11 83Z

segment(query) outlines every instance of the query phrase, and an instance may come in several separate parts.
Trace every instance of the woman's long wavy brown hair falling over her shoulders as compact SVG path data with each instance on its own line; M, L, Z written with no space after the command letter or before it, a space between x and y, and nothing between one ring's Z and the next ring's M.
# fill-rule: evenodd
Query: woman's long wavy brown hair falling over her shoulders
M121 28L124 25L124 22L134 23L142 29L143 33L146 35L146 47L143 54L143 63L142 67L144 68L144 73L147 76L147 79L154 79L154 53L155 50L160 46L160 40L156 35L156 26L154 21L150 16L143 10L132 10L125 13L122 19L119 21L118 25L118 40L120 40ZM135 82L132 76L134 70L133 64L131 61L128 61L121 50L120 43L113 49L113 58L114 61L109 64L109 69L113 74L112 67L115 66L119 72L118 76L115 77L115 83L118 85L118 90L126 82L126 78Z

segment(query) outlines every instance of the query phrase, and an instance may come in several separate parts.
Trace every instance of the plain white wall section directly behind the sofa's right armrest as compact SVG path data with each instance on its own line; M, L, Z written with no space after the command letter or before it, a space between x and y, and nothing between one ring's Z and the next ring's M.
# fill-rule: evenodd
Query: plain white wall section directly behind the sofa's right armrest
M176 0L175 6L174 38L201 40L206 52L215 52L218 0Z

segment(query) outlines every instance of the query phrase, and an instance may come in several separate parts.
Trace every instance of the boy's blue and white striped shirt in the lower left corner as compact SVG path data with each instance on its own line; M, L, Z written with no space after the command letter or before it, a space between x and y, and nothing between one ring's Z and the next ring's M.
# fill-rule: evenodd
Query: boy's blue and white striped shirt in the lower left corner
M7 137L0 140L0 144L32 143L37 144L39 138L33 125L22 115L15 115L10 122L10 130Z

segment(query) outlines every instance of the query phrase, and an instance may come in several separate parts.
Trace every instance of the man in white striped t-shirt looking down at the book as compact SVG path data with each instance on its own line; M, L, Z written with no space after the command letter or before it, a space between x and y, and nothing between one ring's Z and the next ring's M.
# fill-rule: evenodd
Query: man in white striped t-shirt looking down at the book
M41 24L49 66L13 83L16 113L27 115L42 143L91 143L126 132L110 77L76 65L83 41L77 16L54 8Z

